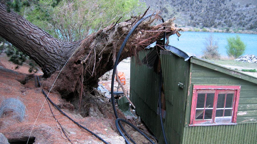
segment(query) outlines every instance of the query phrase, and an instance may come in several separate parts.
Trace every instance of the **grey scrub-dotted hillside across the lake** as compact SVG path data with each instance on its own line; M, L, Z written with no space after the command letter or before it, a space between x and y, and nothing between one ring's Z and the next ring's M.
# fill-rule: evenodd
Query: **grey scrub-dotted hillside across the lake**
M256 0L140 0L180 26L257 31Z

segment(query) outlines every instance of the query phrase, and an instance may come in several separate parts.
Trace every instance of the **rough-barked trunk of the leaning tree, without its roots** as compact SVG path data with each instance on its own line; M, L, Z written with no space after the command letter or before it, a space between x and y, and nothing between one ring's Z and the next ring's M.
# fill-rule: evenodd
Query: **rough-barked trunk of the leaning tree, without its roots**
M81 41L65 43L38 28L0 3L0 35L29 55L42 69L44 77L60 70Z

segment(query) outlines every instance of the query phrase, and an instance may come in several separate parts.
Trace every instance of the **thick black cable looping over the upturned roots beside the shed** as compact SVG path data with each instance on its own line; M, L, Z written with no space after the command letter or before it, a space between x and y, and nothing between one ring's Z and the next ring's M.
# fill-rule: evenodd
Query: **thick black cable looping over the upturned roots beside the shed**
M125 137L125 135L123 134L123 132L127 135L127 137L135 144L135 142L129 137L129 135L127 134L127 132L125 131L125 129L123 128L122 124L120 123L120 121L123 121L125 122L126 124L132 126L134 129L136 129L139 133L142 134L142 131L140 131L139 129L137 129L135 126L133 126L133 124L127 122L126 120L123 120L123 119L120 119L118 114L117 114L117 110L116 110L116 107L115 107L115 102L114 102L114 78L115 78L115 72L117 70L117 65L118 65L118 62L119 62L119 59L120 59L120 56L121 56L121 53L123 51L123 48L125 47L128 39L130 38L132 32L134 32L134 30L138 27L138 25L143 21L145 20L146 18L149 18L151 17L152 15L156 15L156 13L154 14L149 14L149 15L146 15L144 16L143 18L141 18L133 27L132 29L129 31L128 35L126 36L125 40L123 41L122 45L121 45L121 48L116 56L116 61L114 63L114 67L113 67L113 75L112 75L112 82L111 82L111 100L112 100L112 105L113 105L113 111L114 111L114 114L115 114L115 117L116 117L116 121L115 121L115 124L116 124L116 127L119 131L119 133L124 137L125 141L127 144L129 144L129 141L128 139ZM164 22L164 19L162 18L162 22ZM165 43L165 37L166 37L166 33L164 32L164 36L163 36L163 46L164 46L164 43ZM161 77L161 73L160 73L160 77ZM160 80L160 83L161 83L161 80ZM160 84L161 85L161 84ZM160 91L159 91L160 92ZM160 99L160 94L159 94L159 99ZM160 107L160 106L159 106ZM160 118L161 118L161 114L160 114ZM162 118L161 118L161 121L162 121ZM166 136L165 136L165 132L164 132L164 128L163 128L163 124L161 123L162 125L162 132L164 133L164 139L165 139L165 143L167 144L167 141L166 141ZM121 131L121 129L122 131ZM143 134L144 137L146 137L151 143L154 143L149 137L147 137L145 134Z

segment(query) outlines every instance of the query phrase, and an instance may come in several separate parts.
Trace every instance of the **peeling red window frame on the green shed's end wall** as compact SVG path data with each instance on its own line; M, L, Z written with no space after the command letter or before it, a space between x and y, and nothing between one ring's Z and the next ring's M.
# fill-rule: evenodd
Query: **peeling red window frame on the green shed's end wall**
M212 126L212 125L231 125L236 124L236 115L238 111L238 102L240 95L241 86L214 86L214 85L194 85L193 86L193 94L192 94L192 105L191 105L191 114L190 114L190 124L189 126ZM231 94L234 92L234 97L232 100L232 106L226 107L226 96L227 94ZM198 92L201 94L205 94L204 105L201 108L196 108ZM207 94L214 94L212 107L206 106L206 96ZM218 94L225 94L224 106L217 108ZM223 102L223 101L222 101ZM202 119L196 119L196 110L201 110ZM211 112L211 118L205 119L205 111ZM222 111L222 116L216 116L216 111ZM225 110L232 110L231 116L224 116ZM210 116L209 116L210 117ZM230 119L231 117L231 119ZM228 120L227 120L228 119ZM229 120L230 119L230 120Z

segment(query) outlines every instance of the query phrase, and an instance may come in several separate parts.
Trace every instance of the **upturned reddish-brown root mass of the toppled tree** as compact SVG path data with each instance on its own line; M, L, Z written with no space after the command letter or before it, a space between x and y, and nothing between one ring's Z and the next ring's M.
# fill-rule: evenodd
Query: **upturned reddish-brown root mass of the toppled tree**
M130 29L141 18L142 16L133 17L126 22L110 25L87 36L69 60L66 68L61 72L55 89L61 92L63 96L67 96L71 92L77 92L82 96L83 90L81 89L96 87L99 77L113 69L114 56L117 55ZM175 18L158 25L151 25L159 19L158 15L153 15L136 28L130 36L119 61L136 55L138 51L161 39L164 32L167 36L179 34L178 31L181 29L175 27L173 23ZM166 28L163 29L163 27ZM56 74L52 77L54 76Z

